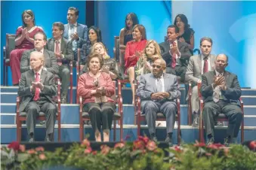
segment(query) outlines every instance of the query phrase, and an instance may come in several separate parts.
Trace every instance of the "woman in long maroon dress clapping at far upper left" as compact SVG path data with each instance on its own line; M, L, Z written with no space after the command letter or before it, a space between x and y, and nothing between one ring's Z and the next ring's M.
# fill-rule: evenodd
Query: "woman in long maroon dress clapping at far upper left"
M20 59L24 50L34 48L34 35L36 32L43 32L42 28L35 26L35 16L31 10L23 11L23 26L16 31L15 50L10 53L10 65L12 83L17 85L20 80Z

